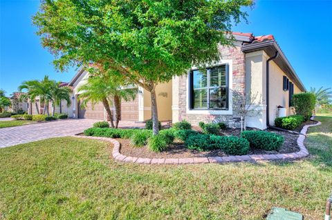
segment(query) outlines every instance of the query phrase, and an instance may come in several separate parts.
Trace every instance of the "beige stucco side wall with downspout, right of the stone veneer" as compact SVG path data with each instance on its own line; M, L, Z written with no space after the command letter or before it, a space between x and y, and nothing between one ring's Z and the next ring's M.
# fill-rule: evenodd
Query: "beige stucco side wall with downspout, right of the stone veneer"
M266 129L266 61L269 59L264 51L246 54L246 94L258 94L261 100L257 105L254 116L247 118L247 126ZM275 124L278 116L277 106L286 108L287 115L293 114L293 108L289 106L289 91L283 90L283 76L288 77L286 72L272 60L269 63L269 123ZM288 77L289 78L289 77ZM294 94L304 92L294 83ZM258 110L261 112L257 115Z

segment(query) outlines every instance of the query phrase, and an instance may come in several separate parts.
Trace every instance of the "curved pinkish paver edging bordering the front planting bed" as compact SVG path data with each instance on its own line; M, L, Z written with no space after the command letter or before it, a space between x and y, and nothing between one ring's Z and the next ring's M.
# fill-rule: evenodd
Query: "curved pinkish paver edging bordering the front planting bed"
M313 119L313 117L311 118ZM97 139L101 141L109 141L113 143L113 158L116 161L129 162L129 163L145 163L145 164L187 164L187 163L228 163L228 162L244 162L244 161L271 161L271 160L293 160L300 159L308 156L309 152L304 146L304 139L306 138L306 132L311 126L319 126L321 123L317 121L314 125L304 126L301 133L297 138L297 145L299 151L289 154L252 154L243 156L228 156L228 157L187 157L187 158L142 158L142 157L130 157L120 153L120 143L116 139L108 137L91 137L91 136L77 136L73 137L85 138L85 139Z

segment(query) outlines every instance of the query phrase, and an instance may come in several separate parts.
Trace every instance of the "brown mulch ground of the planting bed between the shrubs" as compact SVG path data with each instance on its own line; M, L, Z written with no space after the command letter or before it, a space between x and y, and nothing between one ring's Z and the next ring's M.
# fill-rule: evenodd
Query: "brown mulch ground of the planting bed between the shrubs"
M300 131L303 126L308 124L314 124L314 121L308 121L304 123L302 126L300 126L295 131ZM199 127L193 127L193 130L199 130ZM228 128L226 130L223 130L223 135L234 135L239 136L241 130L239 129L232 129ZM284 154L284 153L292 153L299 151L299 147L297 146L297 137L299 137L298 134L291 134L288 132L283 132L279 130L272 130L268 129L268 132L274 132L277 134L281 134L284 136L284 144L282 148L280 148L279 151L266 151L266 150L259 150L259 149L250 149L249 154ZM199 152L197 150L189 150L185 148L183 143L176 142L169 146L167 150L163 152L151 152L147 146L136 148L132 147L129 144L129 139L117 139L120 144L120 152L121 154L124 154L126 156L131 157L149 157L149 158L185 158L185 157L217 157L217 156L229 156L228 154L225 154L221 150L212 150L212 151L204 151Z

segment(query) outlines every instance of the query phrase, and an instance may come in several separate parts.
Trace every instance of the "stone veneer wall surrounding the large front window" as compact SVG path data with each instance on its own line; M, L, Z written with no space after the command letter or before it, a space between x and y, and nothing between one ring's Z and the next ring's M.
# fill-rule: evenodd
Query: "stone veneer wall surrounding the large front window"
M236 106L241 105L243 101L241 98L235 99L234 95L244 94L245 92L245 54L241 52L240 46L235 47L219 47L221 52L221 59L231 59L232 60L232 90L233 100L230 100L230 105L232 105L233 114L187 114L187 75L179 77L179 88L178 88L178 108L179 108L179 121L183 119L192 123L192 125L198 125L199 121L209 122L212 120L224 121L230 127L239 128L241 126L240 116L237 114ZM240 96L241 97L241 96Z

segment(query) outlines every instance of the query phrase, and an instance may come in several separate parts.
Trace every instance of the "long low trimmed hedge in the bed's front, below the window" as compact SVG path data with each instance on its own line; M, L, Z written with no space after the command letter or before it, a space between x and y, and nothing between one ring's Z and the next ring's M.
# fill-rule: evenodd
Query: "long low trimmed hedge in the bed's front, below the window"
M248 154L250 143L235 136L217 136L209 134L191 135L185 140L185 146L191 150L223 150L226 154Z

